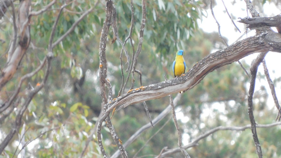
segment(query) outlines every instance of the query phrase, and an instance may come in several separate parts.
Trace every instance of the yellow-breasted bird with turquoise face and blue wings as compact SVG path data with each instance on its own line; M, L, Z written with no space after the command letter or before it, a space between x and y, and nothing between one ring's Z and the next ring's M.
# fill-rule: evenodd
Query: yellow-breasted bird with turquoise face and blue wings
M185 73L185 61L183 59L183 50L179 50L176 52L176 59L173 63L173 73L175 77L179 77L180 75ZM182 91L180 91L182 93Z

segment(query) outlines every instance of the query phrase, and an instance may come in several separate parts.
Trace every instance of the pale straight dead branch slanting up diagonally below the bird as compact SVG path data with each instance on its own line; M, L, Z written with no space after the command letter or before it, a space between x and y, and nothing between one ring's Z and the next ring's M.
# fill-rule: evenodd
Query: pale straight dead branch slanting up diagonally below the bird
M176 97L173 99L174 106L178 105L178 102L180 101L182 95L180 93L177 93ZM157 117L155 117L152 120L152 123L154 125L157 125L165 116L167 116L171 111L171 105L168 105ZM142 132L145 130L152 128L150 123L147 123L146 125L142 126L139 130L137 130L127 141L124 143L124 148L127 148L135 139L137 139ZM117 150L110 158L117 158L120 154L120 151Z

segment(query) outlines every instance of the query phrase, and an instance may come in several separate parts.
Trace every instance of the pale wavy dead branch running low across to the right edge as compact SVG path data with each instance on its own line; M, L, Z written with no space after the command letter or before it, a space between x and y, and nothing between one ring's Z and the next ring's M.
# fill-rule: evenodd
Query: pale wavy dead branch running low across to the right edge
M269 127L274 127L277 125L281 125L281 122L275 122L275 123L271 123L271 124L267 124L267 125L257 125L257 128L269 128ZM211 129L209 131L207 131L206 133L198 136L196 139L194 139L191 143L189 143L188 145L183 146L183 148L188 149L191 148L193 146L197 146L198 141L200 141L201 139L206 138L207 136L219 131L219 130L246 130L246 129L250 129L251 125L245 125L243 127L235 127L235 126L230 126L230 127L223 127L223 126L219 126L216 127L214 129ZM171 154L175 154L180 152L180 148L174 148L174 149L170 149L167 152L163 152L161 155L158 155L157 158L164 158L167 157ZM155 157L156 158L156 157Z

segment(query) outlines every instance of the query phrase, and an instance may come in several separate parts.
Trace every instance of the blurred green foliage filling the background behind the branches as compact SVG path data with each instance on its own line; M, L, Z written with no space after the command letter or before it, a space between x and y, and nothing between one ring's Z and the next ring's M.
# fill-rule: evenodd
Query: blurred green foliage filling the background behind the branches
M51 1L31 1L32 10L40 10ZM234 0L234 3L241 1ZM1 1L4 3L4 1ZM19 1L13 2L15 12ZM0 103L4 105L14 93L20 77L35 70L42 62L47 53L47 45L51 28L58 15L60 7L67 3L62 16L58 21L54 40L64 35L74 22L90 7L94 6L93 12L89 13L77 25L62 42L57 45L53 52L55 58L52 61L51 73L47 84L32 99L28 110L23 117L24 129L20 129L9 145L5 148L1 157L13 157L19 154L26 157L78 157L81 154L90 129L97 121L101 111L101 97L99 95L99 40L103 21L105 18L104 1L57 1L46 12L32 17L30 22L30 46L23 56L16 74L3 87L0 92ZM218 3L218 2L217 2ZM262 14L263 4L275 4L280 8L279 1L255 1L255 7ZM117 28L122 41L130 32L131 6L129 0L114 2L117 10ZM213 6L216 5L215 2ZM1 4L2 6L2 4ZM134 26L132 30L132 42L137 43L141 22L141 1L133 1ZM164 74L168 79L173 78L171 65L175 58L175 52L183 49L185 62L191 68L197 61L213 52L224 48L222 40L217 32L206 33L198 26L198 22L206 15L209 1L147 1L147 17L144 30L142 52L138 58L137 69L142 72L142 85L149 85L164 81ZM245 7L246 8L246 4ZM224 9L224 8L222 8ZM244 11L246 12L246 11ZM235 16L235 13L232 13ZM208 15L210 16L210 15ZM13 36L12 9L8 7L5 16L1 19L0 44L1 58L0 68L7 60L6 51L9 49L10 40ZM237 17L233 17L237 19ZM240 28L241 30L245 30ZM120 52L122 49L118 41L111 44L113 30L110 29L106 58L108 61L107 78L113 87L113 96L117 97L122 84ZM233 40L233 39L232 39ZM130 42L126 43L128 53L132 56ZM135 49L137 45L134 45ZM123 54L123 66L126 70L128 65ZM249 70L250 66L242 60L244 67ZM276 67L277 68L277 67ZM14 100L14 104L21 106L26 99L28 85L35 87L43 76L40 70L36 75L27 79L21 88L21 92ZM124 72L124 76L128 75ZM138 76L138 74L136 74ZM279 85L280 75L274 78L274 84ZM135 88L139 87L138 77L135 77ZM266 83L263 73L258 74L261 83ZM130 79L129 79L130 82ZM125 87L126 93L130 83ZM207 130L217 126L244 126L250 124L247 114L247 95L249 77L245 74L238 63L226 65L207 75L200 84L182 94L181 100L176 107L180 127L183 133L183 144L188 144L193 139ZM254 95L254 114L258 124L275 122L277 110L268 106L267 85L260 84L259 90ZM149 100L146 102L152 118L161 113L167 105L167 97ZM12 107L11 107L12 108ZM1 122L0 140L3 140L10 131L18 113L15 107L13 112ZM0 114L0 117L4 115ZM168 121L164 128L159 130ZM140 127L149 122L142 104L135 104L116 112L112 122L123 142ZM103 127L102 136L105 150L112 155L118 148L111 139L107 127ZM52 130L50 130L52 129ZM25 131L22 141L21 131ZM47 132L46 132L47 131ZM37 138L42 134L41 137ZM264 157L280 157L281 148L278 136L280 127L271 129L258 129ZM146 141L153 135L153 138ZM95 136L94 136L95 138ZM154 128L142 133L127 149L128 157L133 155L145 145L138 156L147 155L154 157L162 148L177 147L177 134L171 115L166 116ZM33 140L33 141L31 141ZM31 142L28 142L31 141ZM20 152L25 143L25 146ZM25 151L25 152L23 152ZM251 137L251 131L218 131L206 139L202 139L198 146L190 148L187 152L191 157L254 157L255 146ZM99 151L96 138L91 141L84 155L85 157L103 157ZM171 157L183 157L181 153Z

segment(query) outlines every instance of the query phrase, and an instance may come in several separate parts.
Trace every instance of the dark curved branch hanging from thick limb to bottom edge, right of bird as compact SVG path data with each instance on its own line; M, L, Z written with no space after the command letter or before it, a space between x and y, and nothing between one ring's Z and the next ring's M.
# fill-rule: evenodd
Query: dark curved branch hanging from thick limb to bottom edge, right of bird
M254 90L255 90L257 70L258 70L260 63L264 59L264 56L266 55L266 53L267 52L261 52L258 55L258 57L255 59L255 61L253 61L251 64L251 68L250 68L251 80L250 80L250 89L249 89L249 94L248 94L248 115L250 118L251 131L253 134L253 139L255 142L255 146L256 146L256 150L257 150L257 154L258 154L259 158L262 158L262 149L260 147L259 138L258 138L257 129L256 129L256 122L255 122L255 118L254 118L254 114L253 114L253 95L254 95Z

